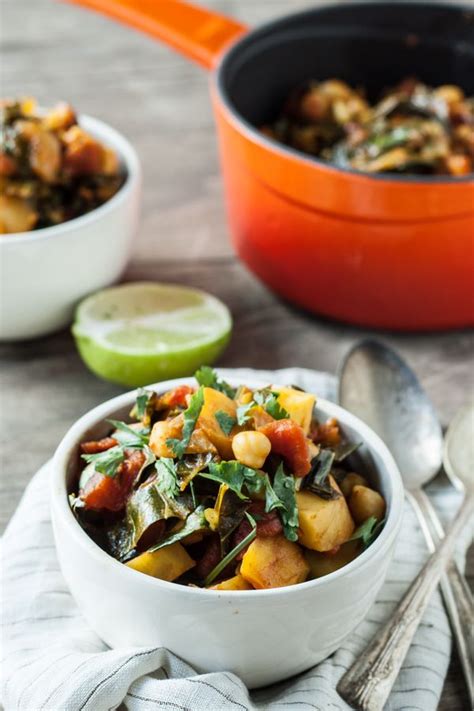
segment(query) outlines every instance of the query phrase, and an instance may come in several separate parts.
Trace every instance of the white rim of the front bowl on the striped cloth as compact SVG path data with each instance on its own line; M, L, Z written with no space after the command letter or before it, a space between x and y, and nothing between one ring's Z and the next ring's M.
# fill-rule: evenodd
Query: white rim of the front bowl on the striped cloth
M234 386L240 384L237 378L229 377L227 380ZM169 390L177 385L194 383L194 378L175 378L173 380L166 380L161 383L147 385L146 389L153 389L159 392ZM261 388L268 385L268 383L264 383L262 380L251 378L246 378L245 384L251 388ZM333 582L338 578L344 577L348 573L352 573L358 569L366 567L370 564L371 558L376 553L378 553L383 547L388 548L390 546L392 539L398 533L403 513L404 489L400 472L387 446L380 439L380 437L358 417L339 405L318 397L316 407L326 410L327 414L330 416L334 416L343 422L343 424L356 429L364 443L369 444L370 449L376 451L385 463L385 467L389 474L388 479L392 488L392 502L384 527L374 543L372 543L365 551L360 553L353 561L347 563L333 573L329 573L321 578L307 580L306 582L298 583L297 585L265 590L207 590L206 588L189 587L179 585L174 582L168 582L166 580L154 578L150 575L139 573L132 568L128 568L126 565L120 563L118 560L102 550L102 548L100 548L100 546L97 545L81 527L69 505L65 474L71 449L79 444L80 437L83 436L84 432L103 422L115 410L123 408L127 405L133 405L136 393L137 390L131 390L123 393L122 395L111 398L110 400L97 405L92 410L89 410L86 414L76 420L61 440L51 463L51 507L54 508L54 512L61 518L63 525L70 530L76 540L76 543L85 549L86 552L98 559L102 566L107 566L110 569L111 574L115 571L115 574L117 575L133 575L135 576L133 578L135 583L138 582L136 576L141 575L141 585L151 586L152 589L162 589L164 592L174 591L176 594L191 596L200 595L204 596L207 600L212 599L210 596L215 597L216 594L223 595L225 597L231 596L232 599L238 598L239 603L241 603L243 599L249 597L253 600L257 598L265 600L268 596L278 597L288 594L296 595L299 592L304 593L309 589L316 590L321 586L327 585L329 582Z

